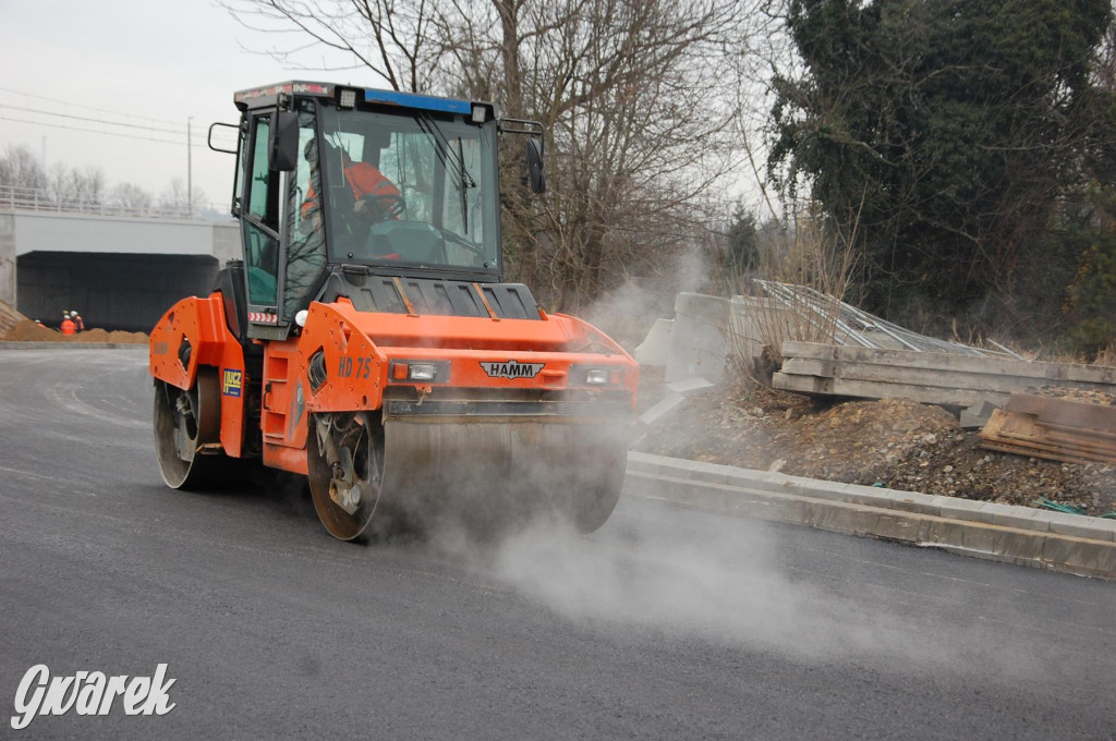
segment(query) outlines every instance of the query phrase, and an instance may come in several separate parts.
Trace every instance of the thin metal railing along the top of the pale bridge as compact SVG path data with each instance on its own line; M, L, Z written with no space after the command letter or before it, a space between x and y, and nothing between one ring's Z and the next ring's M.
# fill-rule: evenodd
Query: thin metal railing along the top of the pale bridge
M192 203L189 206L185 203L122 203L110 196L64 196L38 187L0 185L0 210L4 209L135 219L225 221L232 218L228 203Z

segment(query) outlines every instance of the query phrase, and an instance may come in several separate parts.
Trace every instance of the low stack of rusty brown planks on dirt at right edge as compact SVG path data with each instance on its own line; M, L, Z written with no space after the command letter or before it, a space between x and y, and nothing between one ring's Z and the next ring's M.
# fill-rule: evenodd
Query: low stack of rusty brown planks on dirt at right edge
M1017 392L984 425L981 446L1067 463L1116 464L1114 404L1116 396L1099 392Z

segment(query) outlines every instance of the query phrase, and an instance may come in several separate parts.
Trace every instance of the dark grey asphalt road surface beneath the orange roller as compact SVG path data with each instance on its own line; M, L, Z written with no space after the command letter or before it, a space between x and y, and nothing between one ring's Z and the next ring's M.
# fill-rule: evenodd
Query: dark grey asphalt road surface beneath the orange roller
M0 738L1116 739L1116 585L624 500L331 539L297 487L166 489L146 355L0 352ZM46 664L174 709L37 716Z

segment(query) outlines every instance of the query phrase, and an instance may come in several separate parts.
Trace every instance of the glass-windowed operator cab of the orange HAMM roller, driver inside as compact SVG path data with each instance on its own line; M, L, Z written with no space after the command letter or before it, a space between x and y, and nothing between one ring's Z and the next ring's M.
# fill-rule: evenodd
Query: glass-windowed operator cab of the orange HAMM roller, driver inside
M497 135L540 134L539 124L498 122L488 103L317 83L244 90L235 102L232 212L242 230L248 337L286 337L311 300L373 296L356 289L362 277L417 281L420 293L440 292L431 281L500 282ZM541 192L533 139L528 161ZM526 287L502 288L537 314ZM483 297L477 307L491 311Z

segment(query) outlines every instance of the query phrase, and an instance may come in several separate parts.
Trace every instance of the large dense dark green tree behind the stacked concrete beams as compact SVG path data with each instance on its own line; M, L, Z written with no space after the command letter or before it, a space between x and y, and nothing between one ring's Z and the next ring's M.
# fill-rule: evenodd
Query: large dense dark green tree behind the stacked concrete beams
M865 304L912 319L1010 296L1088 177L1108 0L790 0L770 164L862 252ZM1002 305L1002 304L1001 304Z

